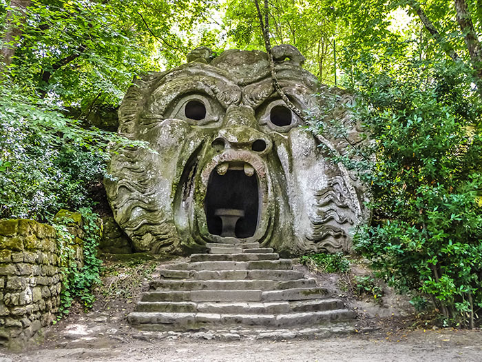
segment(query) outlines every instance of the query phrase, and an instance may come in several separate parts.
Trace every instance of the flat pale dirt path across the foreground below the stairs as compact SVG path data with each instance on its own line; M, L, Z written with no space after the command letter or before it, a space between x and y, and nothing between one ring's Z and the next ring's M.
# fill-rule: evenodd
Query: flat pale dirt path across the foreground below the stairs
M373 332L323 340L156 341L111 337L1 354L0 361L481 361L482 334L454 330Z

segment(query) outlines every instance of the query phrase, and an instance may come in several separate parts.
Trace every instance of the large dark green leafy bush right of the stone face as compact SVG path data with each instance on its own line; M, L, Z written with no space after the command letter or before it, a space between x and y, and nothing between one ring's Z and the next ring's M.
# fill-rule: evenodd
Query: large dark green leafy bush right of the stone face
M472 326L482 307L481 101L457 66L377 67L357 74L353 108L373 141L333 155L371 185L372 225L355 246L414 303L426 296L446 323Z

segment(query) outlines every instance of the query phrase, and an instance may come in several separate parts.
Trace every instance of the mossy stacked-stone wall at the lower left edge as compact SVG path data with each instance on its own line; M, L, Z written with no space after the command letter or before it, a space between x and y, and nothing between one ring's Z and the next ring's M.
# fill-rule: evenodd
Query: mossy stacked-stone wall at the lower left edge
M55 229L33 220L1 220L0 346L20 349L49 325L59 310L60 292Z

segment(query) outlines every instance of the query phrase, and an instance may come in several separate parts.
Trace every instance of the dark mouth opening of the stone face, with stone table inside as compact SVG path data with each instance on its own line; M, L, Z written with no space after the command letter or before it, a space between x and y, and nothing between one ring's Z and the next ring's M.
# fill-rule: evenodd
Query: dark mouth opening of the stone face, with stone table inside
M252 237L258 228L259 193L256 172L247 176L242 166L231 167L222 175L213 170L205 198L209 232L238 239Z

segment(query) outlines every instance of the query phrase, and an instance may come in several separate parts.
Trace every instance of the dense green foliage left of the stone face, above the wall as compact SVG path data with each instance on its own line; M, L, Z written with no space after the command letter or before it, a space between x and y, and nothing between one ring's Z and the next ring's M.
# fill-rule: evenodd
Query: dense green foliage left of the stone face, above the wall
M141 71L180 63L207 5L0 1L0 218L45 221L91 205L107 144L121 141L89 128L92 115L115 114Z

